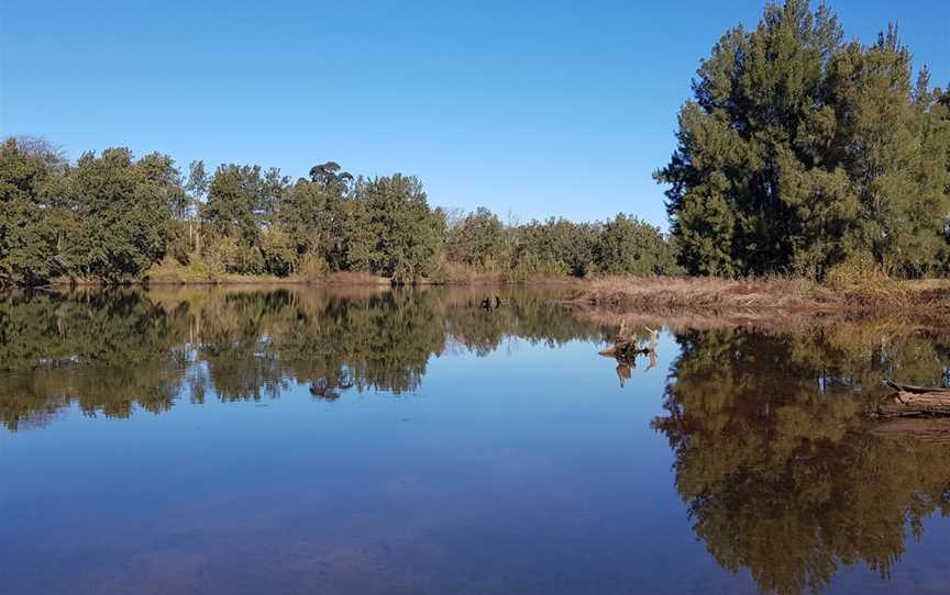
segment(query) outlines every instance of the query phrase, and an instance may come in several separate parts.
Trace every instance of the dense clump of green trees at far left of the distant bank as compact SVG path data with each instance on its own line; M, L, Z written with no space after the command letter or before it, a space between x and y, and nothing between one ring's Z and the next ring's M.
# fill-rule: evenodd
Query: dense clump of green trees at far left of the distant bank
M135 161L126 148L68 166L47 145L0 149L0 283L68 274L134 279L159 259L184 190L168 156Z

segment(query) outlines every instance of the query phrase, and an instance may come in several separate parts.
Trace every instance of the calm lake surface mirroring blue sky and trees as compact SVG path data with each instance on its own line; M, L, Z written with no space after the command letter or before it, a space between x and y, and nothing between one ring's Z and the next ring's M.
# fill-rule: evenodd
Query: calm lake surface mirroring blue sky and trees
M527 290L0 296L0 593L950 591L950 445L862 415L950 333L670 322L630 368L615 330Z

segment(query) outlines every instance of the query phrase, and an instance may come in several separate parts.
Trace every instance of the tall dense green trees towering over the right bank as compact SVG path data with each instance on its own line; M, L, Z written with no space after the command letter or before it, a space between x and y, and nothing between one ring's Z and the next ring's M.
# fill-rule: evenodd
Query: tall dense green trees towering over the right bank
M912 82L896 27L843 38L827 7L788 0L702 63L656 173L689 272L946 271L950 96L926 67Z

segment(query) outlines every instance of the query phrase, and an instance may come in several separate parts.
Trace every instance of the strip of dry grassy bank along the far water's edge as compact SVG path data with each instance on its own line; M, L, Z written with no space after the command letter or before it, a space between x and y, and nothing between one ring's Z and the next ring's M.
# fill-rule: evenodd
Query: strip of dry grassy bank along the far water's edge
M0 291L59 291L69 288L187 288L187 287L313 287L346 288L466 288L550 287L568 291L562 301L586 312L605 315L649 315L672 318L769 319L894 318L950 319L950 280L892 280L874 278L833 287L804 279L719 279L700 277L535 277L506 280L495 273L412 283L368 273L335 272L314 278L221 276L196 278L156 276L142 280L102 282L57 279L35 288Z

